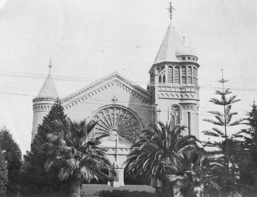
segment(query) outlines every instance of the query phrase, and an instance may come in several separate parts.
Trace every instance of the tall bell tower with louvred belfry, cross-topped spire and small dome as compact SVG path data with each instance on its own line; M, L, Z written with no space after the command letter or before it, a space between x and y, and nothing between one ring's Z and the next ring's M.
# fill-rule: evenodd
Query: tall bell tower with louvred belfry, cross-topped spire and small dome
M174 8L168 9L172 18ZM184 45L172 24L167 29L155 62L151 67L148 91L155 106L154 122L171 122L188 127L185 134L198 138L198 57Z

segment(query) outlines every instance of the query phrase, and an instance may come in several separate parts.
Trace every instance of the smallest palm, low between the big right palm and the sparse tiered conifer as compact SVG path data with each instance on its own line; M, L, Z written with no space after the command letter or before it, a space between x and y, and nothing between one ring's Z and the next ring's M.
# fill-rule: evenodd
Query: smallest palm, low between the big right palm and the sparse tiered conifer
M209 159L204 150L179 151L164 164L164 168L169 172L167 181L178 180L180 193L184 197L196 197L203 192L221 189L216 183L213 171L222 165Z

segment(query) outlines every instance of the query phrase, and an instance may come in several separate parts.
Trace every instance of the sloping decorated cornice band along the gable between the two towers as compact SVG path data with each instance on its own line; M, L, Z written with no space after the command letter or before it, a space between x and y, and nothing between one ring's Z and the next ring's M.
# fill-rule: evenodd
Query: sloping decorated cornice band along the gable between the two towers
M107 89L108 87L111 87L111 85L117 84L121 88L125 89L126 91L129 91L136 97L138 97L140 100L142 100L146 104L151 103L151 96L148 93L148 91L144 90L140 86L136 85L134 82L131 82L118 72L113 72L100 80L89 84L88 86L64 97L62 99L63 106L72 105L72 103L77 103L80 101L80 99L83 100L83 97L92 97L95 94L98 94L104 89Z

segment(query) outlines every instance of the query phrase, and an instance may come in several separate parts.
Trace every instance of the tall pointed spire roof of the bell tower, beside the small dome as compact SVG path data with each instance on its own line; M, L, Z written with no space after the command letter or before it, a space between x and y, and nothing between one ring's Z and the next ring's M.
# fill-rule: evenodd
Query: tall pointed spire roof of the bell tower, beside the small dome
M180 36L171 22L164 36L154 64L160 62L180 62L176 57L176 49L182 46L183 43Z

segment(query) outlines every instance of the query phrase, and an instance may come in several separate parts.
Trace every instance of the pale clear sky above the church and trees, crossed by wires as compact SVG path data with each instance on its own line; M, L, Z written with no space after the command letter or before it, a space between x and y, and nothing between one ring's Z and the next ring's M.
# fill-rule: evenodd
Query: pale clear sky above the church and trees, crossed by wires
M114 71L146 89L149 69L170 23L169 0L0 0L0 126L23 154L30 149L32 99L51 74L65 97ZM199 132L208 102L229 80L236 119L257 100L257 2L173 0L173 24L198 54ZM230 128L229 133L239 128ZM200 133L200 139L206 137Z

